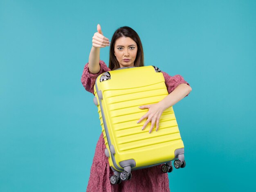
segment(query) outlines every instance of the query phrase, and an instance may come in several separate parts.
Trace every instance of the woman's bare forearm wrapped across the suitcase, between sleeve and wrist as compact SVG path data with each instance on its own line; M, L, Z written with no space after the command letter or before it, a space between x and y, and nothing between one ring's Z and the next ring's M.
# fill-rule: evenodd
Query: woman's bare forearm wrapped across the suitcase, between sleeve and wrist
M173 105L175 105L177 102L182 100L189 92L191 92L192 89L189 85L186 83L182 83L178 85L173 92L168 94L163 100L161 100L158 104L161 105L163 111Z

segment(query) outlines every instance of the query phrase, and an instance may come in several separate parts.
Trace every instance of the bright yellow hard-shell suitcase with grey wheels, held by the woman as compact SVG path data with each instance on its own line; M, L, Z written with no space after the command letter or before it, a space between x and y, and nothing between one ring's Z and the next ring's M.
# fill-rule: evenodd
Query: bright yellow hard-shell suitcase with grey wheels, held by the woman
M146 114L141 105L158 103L168 91L162 72L154 66L123 67L99 75L94 85L94 104L98 107L109 165L114 172L111 184L131 179L131 170L159 164L163 172L185 167L184 145L173 107L166 109L159 130L150 134L150 123L137 121Z

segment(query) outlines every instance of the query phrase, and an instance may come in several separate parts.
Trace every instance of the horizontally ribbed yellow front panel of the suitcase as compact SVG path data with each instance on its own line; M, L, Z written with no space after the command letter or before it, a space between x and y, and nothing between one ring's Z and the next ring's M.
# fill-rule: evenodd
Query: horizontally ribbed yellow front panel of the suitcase
M157 88L157 91L153 87ZM139 92L141 89L143 91ZM151 134L148 133L151 123L146 129L141 130L146 119L137 124L139 118L148 112L148 109L139 109L139 106L158 103L167 95L168 92L163 83L155 83L139 89L136 87L104 91L103 100L104 103L108 103L107 116L111 126L109 130L113 136L112 143L115 143L115 158L118 162L137 159L137 166L145 166L145 159L138 156L147 156L152 149L157 150L156 154L159 153L158 150L165 151L155 161L161 162L163 159L170 159L170 156L174 158L174 150L170 149L170 146L175 146L177 143L183 144L183 142L172 107L162 114L158 132L155 132L154 128Z

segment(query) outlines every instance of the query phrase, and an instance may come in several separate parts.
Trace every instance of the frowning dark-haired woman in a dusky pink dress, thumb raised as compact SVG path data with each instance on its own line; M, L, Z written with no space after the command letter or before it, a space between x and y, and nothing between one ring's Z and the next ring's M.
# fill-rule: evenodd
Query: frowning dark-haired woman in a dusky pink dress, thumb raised
M141 67L144 66L144 55L141 40L138 34L130 27L120 27L112 36L112 41L103 36L100 25L97 25L97 31L92 37L92 49L89 56L89 62L85 65L81 82L88 92L94 93L93 87L95 80L99 74L106 71L114 70L120 67ZM100 60L100 48L110 45L109 67ZM169 76L165 72L164 75L166 87L169 95L159 103L153 105L140 106L140 109L147 109L145 115L142 116L137 123L147 118L141 130L144 131L146 125L150 122L151 126L148 130L149 134L156 125L156 131L159 129L159 118L168 107L173 106L182 98L191 92L191 87L182 76ZM90 179L87 186L88 192L168 192L169 180L168 174L164 174L161 165L146 169L132 171L132 179L121 182L118 185L111 185L109 178L113 175L109 167L108 158L105 156L103 134L99 138L96 146L94 159L92 162Z

